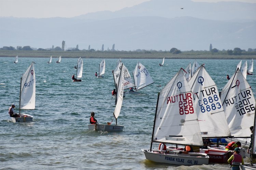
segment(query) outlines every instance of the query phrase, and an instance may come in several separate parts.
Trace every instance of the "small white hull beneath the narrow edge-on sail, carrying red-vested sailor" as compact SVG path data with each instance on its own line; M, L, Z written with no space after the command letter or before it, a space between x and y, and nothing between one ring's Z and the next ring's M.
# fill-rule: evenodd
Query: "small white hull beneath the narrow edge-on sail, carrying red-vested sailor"
M89 130L96 130L96 131L107 131L107 132L120 132L123 131L123 125L106 125L106 124L89 124Z

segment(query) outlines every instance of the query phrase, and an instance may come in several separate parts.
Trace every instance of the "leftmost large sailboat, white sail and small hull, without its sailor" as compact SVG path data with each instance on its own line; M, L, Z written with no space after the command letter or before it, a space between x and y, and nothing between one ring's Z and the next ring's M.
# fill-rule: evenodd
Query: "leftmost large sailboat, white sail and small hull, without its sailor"
M21 109L35 109L35 71L34 65L28 67L20 78L19 114ZM13 118L12 122L31 122L33 116L20 114L21 117Z

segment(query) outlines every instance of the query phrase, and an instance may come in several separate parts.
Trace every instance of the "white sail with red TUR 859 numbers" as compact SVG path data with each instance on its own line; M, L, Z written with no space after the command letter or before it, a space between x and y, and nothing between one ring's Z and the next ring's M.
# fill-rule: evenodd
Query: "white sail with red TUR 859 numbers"
M153 142L202 146L193 95L182 70L160 91Z

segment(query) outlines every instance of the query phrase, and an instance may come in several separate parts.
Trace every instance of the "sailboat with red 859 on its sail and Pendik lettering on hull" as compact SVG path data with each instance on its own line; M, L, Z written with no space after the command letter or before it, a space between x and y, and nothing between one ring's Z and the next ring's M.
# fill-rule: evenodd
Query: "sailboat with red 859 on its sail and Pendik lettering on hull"
M146 159L174 165L202 165L209 163L205 153L179 153L168 148L169 153L152 150L152 143L203 146L195 103L191 88L182 69L158 93L150 149L142 149Z

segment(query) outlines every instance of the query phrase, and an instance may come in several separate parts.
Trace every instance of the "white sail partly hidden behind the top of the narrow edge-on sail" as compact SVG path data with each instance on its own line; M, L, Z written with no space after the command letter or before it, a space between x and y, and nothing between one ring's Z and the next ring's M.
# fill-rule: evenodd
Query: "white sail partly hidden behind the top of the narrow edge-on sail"
M118 86L117 83L119 80L121 66L122 66L122 62L119 62L118 66L113 71L115 85L117 85L117 86ZM129 73L128 69L126 68L126 66L124 64L123 64L123 70L124 70L124 72L123 72L124 73L124 89L135 87L133 79L131 78L131 74Z

